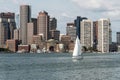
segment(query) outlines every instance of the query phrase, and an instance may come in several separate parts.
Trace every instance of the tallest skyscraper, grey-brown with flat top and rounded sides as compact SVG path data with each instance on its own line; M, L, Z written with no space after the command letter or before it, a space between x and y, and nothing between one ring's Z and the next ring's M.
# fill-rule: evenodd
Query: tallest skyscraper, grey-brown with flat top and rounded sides
M31 19L31 8L29 5L20 6L20 38L22 44L27 44L27 23Z

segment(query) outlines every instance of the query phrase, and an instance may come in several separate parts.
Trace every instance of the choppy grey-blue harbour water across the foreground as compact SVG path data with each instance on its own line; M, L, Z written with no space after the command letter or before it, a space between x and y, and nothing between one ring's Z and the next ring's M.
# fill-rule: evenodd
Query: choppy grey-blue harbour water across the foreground
M0 80L120 80L120 54L0 54Z

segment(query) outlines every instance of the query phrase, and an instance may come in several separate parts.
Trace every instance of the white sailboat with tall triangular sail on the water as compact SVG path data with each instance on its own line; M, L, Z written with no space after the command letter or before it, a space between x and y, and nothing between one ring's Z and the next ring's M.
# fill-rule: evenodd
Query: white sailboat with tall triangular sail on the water
M72 55L73 59L81 59L81 45L80 45L80 40L77 36L76 41L75 41L75 47L74 47L74 51L73 51L73 55Z

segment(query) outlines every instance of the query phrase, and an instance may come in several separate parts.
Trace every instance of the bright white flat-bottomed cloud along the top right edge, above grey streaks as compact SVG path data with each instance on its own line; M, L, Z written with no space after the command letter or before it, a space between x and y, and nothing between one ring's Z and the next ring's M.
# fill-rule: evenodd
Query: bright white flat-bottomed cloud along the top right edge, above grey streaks
M72 0L74 3L84 9L113 9L116 4L120 5L118 0Z

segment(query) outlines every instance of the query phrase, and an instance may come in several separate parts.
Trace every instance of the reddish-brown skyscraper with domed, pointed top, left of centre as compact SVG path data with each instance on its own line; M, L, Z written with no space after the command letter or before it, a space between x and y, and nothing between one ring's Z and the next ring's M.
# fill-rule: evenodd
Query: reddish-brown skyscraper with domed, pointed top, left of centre
M38 15L37 32L43 35L44 40L49 39L49 15L45 11L41 11Z

